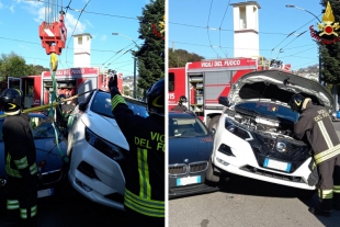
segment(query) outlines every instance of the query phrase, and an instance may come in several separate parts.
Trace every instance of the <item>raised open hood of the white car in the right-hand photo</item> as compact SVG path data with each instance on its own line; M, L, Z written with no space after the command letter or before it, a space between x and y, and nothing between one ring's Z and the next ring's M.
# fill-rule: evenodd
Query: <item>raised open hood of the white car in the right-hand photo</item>
M231 104L268 100L287 105L294 93L310 98L329 111L333 110L332 94L320 83L279 70L253 71L242 76L231 86L228 99Z

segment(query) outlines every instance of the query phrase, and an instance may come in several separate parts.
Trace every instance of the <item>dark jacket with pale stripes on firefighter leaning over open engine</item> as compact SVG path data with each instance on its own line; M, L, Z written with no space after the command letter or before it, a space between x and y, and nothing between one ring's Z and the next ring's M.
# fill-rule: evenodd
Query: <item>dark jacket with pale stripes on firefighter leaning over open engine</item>
M303 103L303 112L294 125L294 134L303 139L306 136L314 150L316 164L340 155L340 141L329 112L314 105L310 99Z

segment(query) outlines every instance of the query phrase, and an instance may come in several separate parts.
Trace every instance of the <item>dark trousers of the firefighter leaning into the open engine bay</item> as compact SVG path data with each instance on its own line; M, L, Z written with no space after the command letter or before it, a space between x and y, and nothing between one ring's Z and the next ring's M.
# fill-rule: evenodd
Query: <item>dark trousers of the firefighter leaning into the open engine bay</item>
M318 197L322 211L331 211L332 203L340 205L340 156L318 164Z

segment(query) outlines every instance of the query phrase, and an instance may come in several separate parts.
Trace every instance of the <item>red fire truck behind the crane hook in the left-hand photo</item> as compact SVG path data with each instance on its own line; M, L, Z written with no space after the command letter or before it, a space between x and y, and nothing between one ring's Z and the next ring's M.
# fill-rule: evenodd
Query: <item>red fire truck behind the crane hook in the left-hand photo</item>
M117 76L118 89L122 92L123 73L117 73ZM107 90L110 77L106 73L100 73L98 67L86 67L58 69L55 79L57 97L65 94L69 98L93 89ZM50 71L43 71L37 76L8 77L8 88L18 88L23 91L25 109L47 104L50 102L53 92ZM73 102L82 102L87 95L81 95Z

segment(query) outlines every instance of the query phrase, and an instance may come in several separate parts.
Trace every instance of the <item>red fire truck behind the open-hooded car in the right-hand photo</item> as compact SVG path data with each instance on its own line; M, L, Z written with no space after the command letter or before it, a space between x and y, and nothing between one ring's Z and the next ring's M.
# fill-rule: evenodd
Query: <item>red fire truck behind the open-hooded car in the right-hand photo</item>
M272 61L273 63L273 61ZM227 97L233 83L254 70L276 68L291 71L291 65L272 65L263 58L228 58L186 63L182 68L169 68L169 110L185 95L188 109L209 129L216 126L223 105L218 97Z

